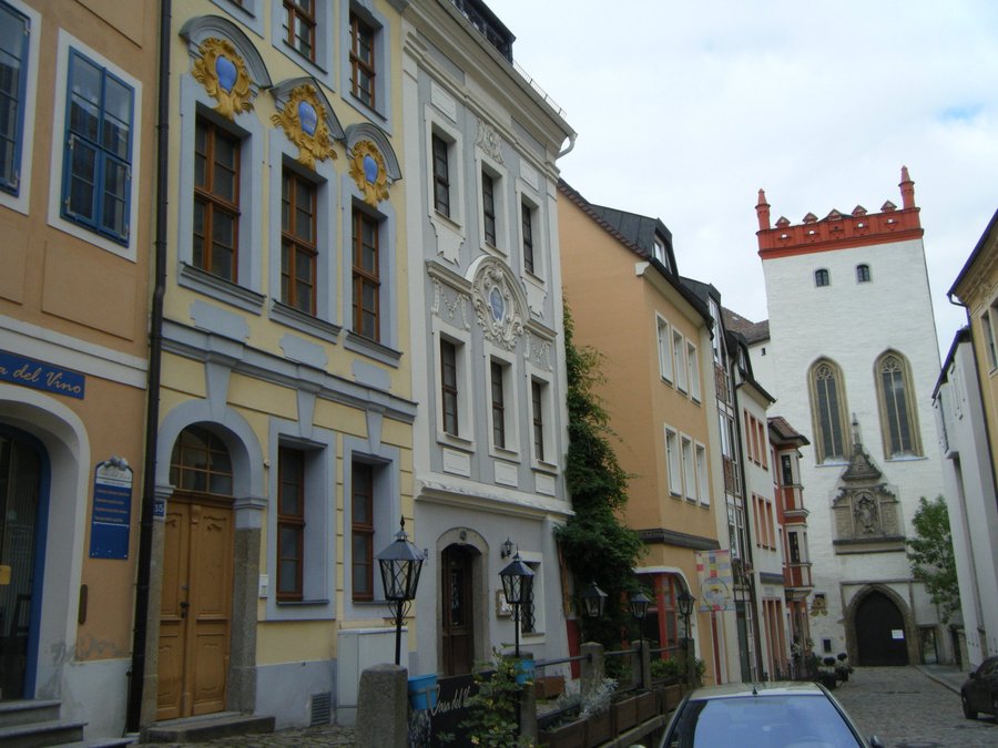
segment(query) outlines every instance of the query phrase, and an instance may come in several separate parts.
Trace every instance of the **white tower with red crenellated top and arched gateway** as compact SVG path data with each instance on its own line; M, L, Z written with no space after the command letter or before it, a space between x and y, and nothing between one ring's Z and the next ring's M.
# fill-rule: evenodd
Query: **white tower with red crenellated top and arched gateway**
M811 515L811 628L819 657L853 664L948 660L935 605L912 577L905 540L918 500L943 493L931 393L939 351L919 208L857 206L800 225L758 192L770 337L752 349L761 383L804 432Z

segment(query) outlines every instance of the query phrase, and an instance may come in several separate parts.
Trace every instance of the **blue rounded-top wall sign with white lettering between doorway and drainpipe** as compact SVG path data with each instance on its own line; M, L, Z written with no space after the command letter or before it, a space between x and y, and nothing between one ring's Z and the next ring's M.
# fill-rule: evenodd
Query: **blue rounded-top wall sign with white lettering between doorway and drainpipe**
M90 557L128 559L131 520L132 469L125 460L111 458L94 470Z

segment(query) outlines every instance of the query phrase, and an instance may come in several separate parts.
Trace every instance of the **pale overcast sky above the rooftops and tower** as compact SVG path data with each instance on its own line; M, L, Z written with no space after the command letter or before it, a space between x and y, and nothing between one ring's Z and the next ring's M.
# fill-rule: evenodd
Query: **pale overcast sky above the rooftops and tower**
M579 133L566 181L661 218L680 273L753 321L760 187L798 224L899 206L907 166L945 356L946 291L998 209L998 2L488 2Z

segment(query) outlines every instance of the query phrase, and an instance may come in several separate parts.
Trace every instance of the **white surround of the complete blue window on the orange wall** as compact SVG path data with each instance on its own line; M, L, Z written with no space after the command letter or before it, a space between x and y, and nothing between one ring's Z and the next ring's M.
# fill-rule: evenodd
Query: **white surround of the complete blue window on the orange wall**
M94 64L105 68L108 72L112 73L115 78L121 79L122 82L132 89L134 95L132 100L131 186L129 187L128 219L129 238L128 244L125 245L113 242L86 226L62 217L62 183L63 174L65 174L67 158L64 139L67 117L65 100L68 93L67 86L69 85L69 58L71 48ZM141 144L144 137L142 132L142 82L108 60L108 58L99 54L90 47L69 34L64 29L59 29L55 59L55 95L52 112L52 178L49 180L49 225L134 263L139 257L139 237L140 234L142 234L139 223L139 206L143 198L141 174Z

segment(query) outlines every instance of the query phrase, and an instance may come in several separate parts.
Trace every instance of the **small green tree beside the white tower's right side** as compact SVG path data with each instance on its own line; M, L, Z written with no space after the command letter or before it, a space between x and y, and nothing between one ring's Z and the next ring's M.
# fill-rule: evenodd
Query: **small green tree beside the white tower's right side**
M915 537L907 541L908 563L912 574L925 584L929 597L939 606L943 623L947 623L960 607L949 513L943 496L936 496L935 501L921 496L918 504L912 521Z

